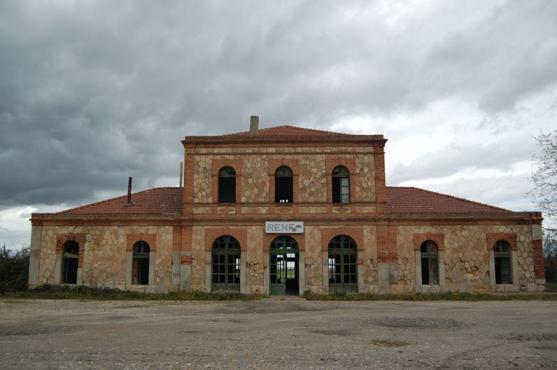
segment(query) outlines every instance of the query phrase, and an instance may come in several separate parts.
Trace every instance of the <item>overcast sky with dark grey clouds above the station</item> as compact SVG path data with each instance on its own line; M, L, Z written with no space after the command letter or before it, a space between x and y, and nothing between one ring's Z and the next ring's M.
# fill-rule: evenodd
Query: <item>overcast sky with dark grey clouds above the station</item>
M557 1L0 1L0 246L177 186L185 135L384 134L387 184L535 207Z

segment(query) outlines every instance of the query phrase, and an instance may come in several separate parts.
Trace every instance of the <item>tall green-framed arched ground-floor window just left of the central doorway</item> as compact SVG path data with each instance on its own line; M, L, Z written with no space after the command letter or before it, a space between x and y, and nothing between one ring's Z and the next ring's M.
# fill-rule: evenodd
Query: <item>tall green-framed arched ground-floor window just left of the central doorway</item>
M240 243L233 236L221 236L212 247L212 291L240 293Z

